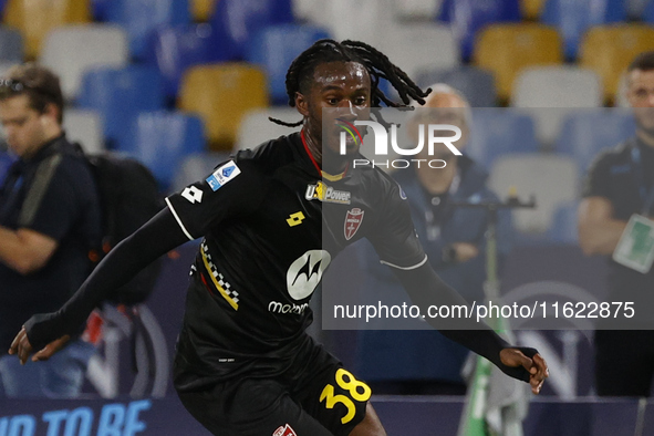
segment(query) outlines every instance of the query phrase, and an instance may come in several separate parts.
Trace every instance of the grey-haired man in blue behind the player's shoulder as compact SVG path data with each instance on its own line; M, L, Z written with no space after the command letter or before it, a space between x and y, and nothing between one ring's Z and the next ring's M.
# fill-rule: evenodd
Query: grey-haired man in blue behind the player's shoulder
M461 129L463 135L454 145L459 150L465 149L471 127L468 102L446 84L430 87L433 91L425 98L424 108L418 107L411 122L413 125L408 127L411 144L418 142L417 124L453 124ZM393 177L406 193L418 238L434 270L469 302L479 301L484 298L486 280L488 214L481 209L457 208L451 201L498 198L486 186L486 169L465 152L457 156L442 147L435 153L434 156L427 155L425 147L417 158L442 159L446 163L444 168L414 164L393 173ZM498 224L501 257L510 249L510 212L501 212ZM363 291L366 295L378 295L388 305L409 301L393 272L378 262L372 247L361 243L359 255L366 271ZM425 326L421 321L415 320L415 323L417 329ZM460 372L468 350L438 331L362 330L359 334L359 371L376 393L465 394Z

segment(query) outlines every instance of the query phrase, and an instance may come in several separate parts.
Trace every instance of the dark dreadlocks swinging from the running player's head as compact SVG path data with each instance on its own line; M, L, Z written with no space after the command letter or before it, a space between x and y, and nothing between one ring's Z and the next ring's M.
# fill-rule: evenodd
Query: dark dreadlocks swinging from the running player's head
M372 82L373 107L378 107L382 102L391 107L406 106L411 102L409 98L425 104L424 97L432 92L430 89L422 91L404 71L394 65L384 53L371 45L360 41L346 40L336 42L325 39L316 41L291 63L287 72L286 82L289 105L291 107L295 106L295 93L305 92L313 81L315 66L334 61L357 62L367 70ZM404 104L393 102L378 89L381 79L387 80L397 90ZM289 127L295 127L302 124L302 121L287 123L272 117L269 120Z

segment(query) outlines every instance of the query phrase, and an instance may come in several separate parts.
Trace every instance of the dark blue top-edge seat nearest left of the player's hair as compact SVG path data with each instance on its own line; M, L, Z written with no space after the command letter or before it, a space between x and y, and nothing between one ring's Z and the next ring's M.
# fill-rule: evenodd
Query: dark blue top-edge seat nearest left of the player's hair
M290 0L220 0L210 20L216 43L227 48L231 60L245 58L259 30L292 22Z

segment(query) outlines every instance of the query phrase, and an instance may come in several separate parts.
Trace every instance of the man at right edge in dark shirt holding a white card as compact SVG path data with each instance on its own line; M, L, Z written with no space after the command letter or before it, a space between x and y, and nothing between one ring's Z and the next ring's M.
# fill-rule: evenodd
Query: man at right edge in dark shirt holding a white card
M627 98L636 135L593 162L579 206L584 253L612 255L605 301L634 302L635 316L617 325L629 330L600 325L595 332L595 384L602 396L650 396L654 380L654 271L646 261L630 263L630 256L621 255L625 240L646 246L654 216L654 51L641 53L629 66ZM645 232L634 232L634 222ZM643 258L650 250L642 251Z

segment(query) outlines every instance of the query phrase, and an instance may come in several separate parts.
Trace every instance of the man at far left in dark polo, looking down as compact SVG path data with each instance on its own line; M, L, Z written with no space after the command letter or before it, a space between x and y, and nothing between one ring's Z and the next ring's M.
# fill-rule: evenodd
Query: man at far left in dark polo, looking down
M101 238L96 185L65 137L63 103L59 77L42 66L0 79L0 122L18 157L0 187L0 385L10 397L77 396L95 351L76 340L45 365L6 355L30 314L58 309L80 287Z

